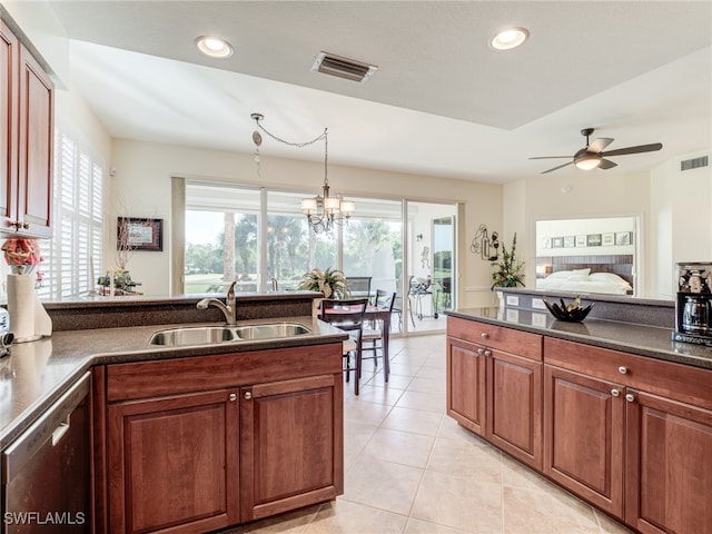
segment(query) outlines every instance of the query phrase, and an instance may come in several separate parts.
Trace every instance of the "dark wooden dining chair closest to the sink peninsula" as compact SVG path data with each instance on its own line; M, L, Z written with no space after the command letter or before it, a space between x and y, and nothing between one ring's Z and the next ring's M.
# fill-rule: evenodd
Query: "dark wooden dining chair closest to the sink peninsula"
M348 333L348 339L343 344L344 373L349 382L354 372L354 394L358 395L358 378L360 377L364 312L368 305L367 298L322 300L319 318ZM352 358L354 362L352 363Z

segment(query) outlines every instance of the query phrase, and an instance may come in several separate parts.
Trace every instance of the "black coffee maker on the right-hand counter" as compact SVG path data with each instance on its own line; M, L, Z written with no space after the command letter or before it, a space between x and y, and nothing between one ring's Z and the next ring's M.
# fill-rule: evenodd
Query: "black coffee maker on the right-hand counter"
M676 265L675 342L712 347L712 261Z

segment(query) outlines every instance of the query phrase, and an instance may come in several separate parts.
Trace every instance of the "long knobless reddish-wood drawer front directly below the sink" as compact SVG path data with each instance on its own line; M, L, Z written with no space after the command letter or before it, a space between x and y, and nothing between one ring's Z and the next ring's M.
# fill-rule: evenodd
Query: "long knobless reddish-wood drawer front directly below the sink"
M342 372L342 343L107 366L107 400L129 400Z

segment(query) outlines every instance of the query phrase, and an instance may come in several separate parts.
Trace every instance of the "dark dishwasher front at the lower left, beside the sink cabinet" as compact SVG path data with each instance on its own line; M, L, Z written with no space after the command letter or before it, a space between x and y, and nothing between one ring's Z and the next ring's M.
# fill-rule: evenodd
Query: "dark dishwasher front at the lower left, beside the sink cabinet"
M2 452L3 533L91 532L91 375Z

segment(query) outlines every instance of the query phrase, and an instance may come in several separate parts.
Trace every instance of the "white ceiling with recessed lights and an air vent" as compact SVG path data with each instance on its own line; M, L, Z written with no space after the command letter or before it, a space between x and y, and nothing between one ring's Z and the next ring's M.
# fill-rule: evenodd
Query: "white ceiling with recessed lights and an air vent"
M112 137L254 151L251 112L288 141L328 127L329 162L504 184L593 138L626 174L712 147L712 2L48 1L72 39L71 87ZM523 47L496 52L496 30ZM218 34L236 53L202 57ZM310 71L327 51L366 83ZM269 138L263 158L318 160ZM582 176L573 166L556 171Z

